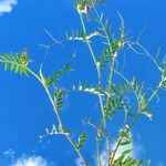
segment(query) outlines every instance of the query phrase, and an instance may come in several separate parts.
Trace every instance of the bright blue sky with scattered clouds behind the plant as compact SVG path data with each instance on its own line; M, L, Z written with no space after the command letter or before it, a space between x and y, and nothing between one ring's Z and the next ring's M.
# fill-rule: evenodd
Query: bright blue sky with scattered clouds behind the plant
M143 29L141 42L152 53L160 48L160 56L166 53L166 1L160 0L107 0L103 10L110 18L113 30L117 33L121 20L117 11L124 18L127 35L135 39ZM94 28L89 22L91 28ZM56 39L63 40L64 32L80 27L79 15L73 8L73 0L0 0L0 53L29 50L34 61L31 66L39 71L44 63L45 74L61 69L73 52L76 60L74 72L69 73L60 83L66 89L72 84L95 83L95 69L85 45L68 43L65 48L53 46L45 56L45 50L40 44L52 44L44 30ZM96 50L100 49L96 48ZM148 87L155 87L159 79L158 71L152 62L134 52L122 54L126 59L124 72L126 76L136 75L146 82ZM121 65L121 62L120 62ZM133 131L135 151L143 158L151 158L152 166L165 166L166 113L164 91L159 92L159 103L152 108L153 121L143 117ZM97 116L94 96L71 93L62 110L64 123L76 133L83 131L82 118ZM52 106L42 89L33 77L14 75L0 70L0 166L72 166L76 165L77 156L63 137L46 137L39 143L38 136L51 127L55 121ZM116 124L115 124L116 125ZM116 128L112 126L113 131ZM86 127L86 129L90 129ZM93 134L93 133L92 133ZM75 136L73 134L73 136ZM94 143L95 144L95 143ZM85 156L94 165L93 139L90 138ZM22 165L21 165L22 164ZM27 164L27 165L25 165ZM32 165L33 164L33 165Z

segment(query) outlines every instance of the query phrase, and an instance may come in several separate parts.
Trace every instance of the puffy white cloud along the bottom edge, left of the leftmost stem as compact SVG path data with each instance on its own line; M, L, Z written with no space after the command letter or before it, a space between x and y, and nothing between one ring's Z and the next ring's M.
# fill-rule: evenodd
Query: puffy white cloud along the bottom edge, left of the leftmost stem
M45 159L41 156L21 157L14 162L11 166L48 166Z

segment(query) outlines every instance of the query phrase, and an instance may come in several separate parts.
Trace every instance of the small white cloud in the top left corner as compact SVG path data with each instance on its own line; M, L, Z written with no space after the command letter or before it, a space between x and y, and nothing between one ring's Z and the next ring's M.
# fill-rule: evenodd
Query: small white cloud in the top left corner
M11 12L18 0L0 0L0 14Z

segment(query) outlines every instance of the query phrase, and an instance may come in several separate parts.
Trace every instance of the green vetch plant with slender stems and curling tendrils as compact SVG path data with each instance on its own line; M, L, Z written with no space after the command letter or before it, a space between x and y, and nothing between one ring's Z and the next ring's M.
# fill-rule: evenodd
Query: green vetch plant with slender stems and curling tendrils
M166 87L166 58L162 62L157 62L148 51L139 43L139 41L129 41L125 33L125 25L122 15L118 13L121 19L121 27L118 38L115 38L110 22L104 18L103 12L100 13L96 10L96 4L104 2L102 0L77 0L75 8L80 17L81 28L73 31L72 34L66 33L65 41L75 41L86 44L86 48L90 51L90 58L92 58L93 66L97 73L97 84L95 85L73 85L70 91L80 91L94 94L98 98L101 116L97 118L100 123L95 122L95 118L90 117L83 123L90 125L95 132L96 135L91 135L95 137L96 141L96 160L98 166L141 166L141 165L151 165L148 160L134 158L132 156L133 152L133 141L132 141L132 129L137 121L142 120L142 116L147 116L149 120L153 118L152 114L152 101L157 95L157 93ZM91 15L91 12L93 14ZM90 19L97 24L96 29L89 32L85 19ZM48 32L49 33L49 32ZM51 34L50 34L51 35ZM97 38L96 38L97 37ZM93 45L93 40L101 40L101 44L104 50L102 54L95 54ZM60 43L63 43L60 42ZM63 43L64 44L64 43ZM135 49L139 48L139 52ZM118 55L124 50L124 48L129 48L136 54L142 54L154 63L160 73L160 81L156 87L149 93L144 83L141 83L134 75L133 79L127 79L123 73L116 69L116 63L118 61ZM41 83L45 93L53 106L54 114L59 125L52 125L52 128L45 128L45 134L40 136L42 141L48 135L63 135L73 151L77 154L82 165L87 166L89 160L82 154L82 151L86 151L84 147L86 141L89 139L89 133L83 132L77 139L73 138L72 132L65 127L61 118L61 108L64 105L64 96L70 93L63 87L56 85L56 81L63 77L68 72L72 71L72 64L68 63L63 69L55 71L52 76L44 75L42 64L39 70L39 73L35 73L29 64L32 60L29 56L28 50L23 50L20 54L6 53L0 55L0 64L4 65L4 71L13 71L14 73L20 73L21 75L33 76L38 82ZM107 75L103 74L103 71L107 71ZM122 81L115 81L114 75L118 76ZM105 84L106 82L106 84ZM136 103L131 103L131 94L134 94ZM116 137L112 137L110 132L111 123L114 122L116 114L121 112L124 115L124 122L118 131ZM117 125L117 124L116 124ZM115 142L113 142L115 141ZM103 158L102 147L103 143L106 144L106 153ZM113 146L114 145L114 146ZM117 152L121 147L125 148L117 156ZM104 159L104 164L103 164Z

